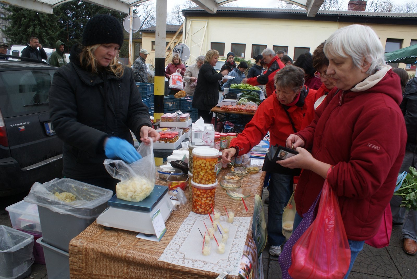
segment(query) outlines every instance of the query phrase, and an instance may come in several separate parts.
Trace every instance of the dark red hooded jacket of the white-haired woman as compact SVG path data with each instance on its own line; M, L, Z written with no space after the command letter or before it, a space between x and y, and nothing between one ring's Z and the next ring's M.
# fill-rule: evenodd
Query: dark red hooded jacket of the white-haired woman
M311 125L297 133L314 158L334 165L328 182L338 196L347 238L355 241L377 233L405 152L399 77L392 70L384 74L384 68L381 76L361 92L335 94L333 88ZM303 171L295 191L298 214L308 211L323 183L317 173Z

